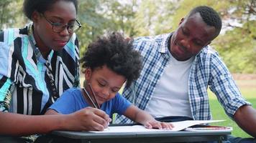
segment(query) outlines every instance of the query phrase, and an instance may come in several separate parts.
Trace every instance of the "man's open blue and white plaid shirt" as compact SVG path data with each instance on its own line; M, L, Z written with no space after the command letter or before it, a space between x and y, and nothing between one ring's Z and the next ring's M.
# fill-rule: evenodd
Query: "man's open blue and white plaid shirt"
M124 88L123 96L140 109L147 107L165 66L170 61L170 36L172 33L134 39L134 49L144 57L143 69L140 78L129 88ZM232 119L239 107L250 104L242 97L227 66L210 46L204 47L196 55L189 74L188 97L193 119L211 119L208 86ZM117 115L115 123L129 122L131 121L126 117Z

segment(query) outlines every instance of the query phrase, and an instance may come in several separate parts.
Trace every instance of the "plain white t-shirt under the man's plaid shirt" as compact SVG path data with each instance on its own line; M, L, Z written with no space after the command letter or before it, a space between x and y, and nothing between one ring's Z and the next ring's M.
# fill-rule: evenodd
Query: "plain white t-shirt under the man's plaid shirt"
M186 61L177 61L171 54L170 56L171 59L145 111L153 117L192 117L188 99L188 77L194 57Z

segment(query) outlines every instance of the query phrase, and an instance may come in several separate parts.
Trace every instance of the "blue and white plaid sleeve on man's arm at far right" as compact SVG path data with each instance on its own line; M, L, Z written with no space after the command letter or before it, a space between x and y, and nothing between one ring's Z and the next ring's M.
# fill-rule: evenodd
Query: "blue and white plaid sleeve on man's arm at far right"
M224 107L224 110L229 117L233 119L234 113L242 105L250 105L250 103L242 97L227 66L221 61L219 56L212 58L211 79L210 89L216 94L219 102L222 107Z

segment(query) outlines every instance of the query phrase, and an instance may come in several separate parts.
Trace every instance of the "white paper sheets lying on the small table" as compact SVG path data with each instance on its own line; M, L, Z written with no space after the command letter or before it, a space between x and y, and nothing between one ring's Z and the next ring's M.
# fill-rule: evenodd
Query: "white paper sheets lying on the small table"
M186 129L187 127L191 127L196 124L207 124L212 122L222 122L224 120L187 120L181 122L172 122L173 129L147 129L142 125L134 125L134 126L114 126L108 127L104 129L104 131L89 131L96 133L125 133L125 132L175 132L180 131L182 129Z

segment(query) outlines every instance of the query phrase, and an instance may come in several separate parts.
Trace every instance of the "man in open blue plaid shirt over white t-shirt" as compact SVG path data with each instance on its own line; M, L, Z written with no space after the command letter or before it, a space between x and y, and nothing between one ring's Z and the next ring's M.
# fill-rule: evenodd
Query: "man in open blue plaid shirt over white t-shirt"
M227 66L209 44L221 31L219 15L198 6L170 34L139 37L134 49L144 56L141 76L123 95L153 117L211 119L207 88L229 117L256 137L256 111L242 97ZM128 119L117 116L117 123Z

